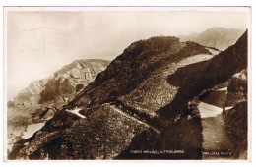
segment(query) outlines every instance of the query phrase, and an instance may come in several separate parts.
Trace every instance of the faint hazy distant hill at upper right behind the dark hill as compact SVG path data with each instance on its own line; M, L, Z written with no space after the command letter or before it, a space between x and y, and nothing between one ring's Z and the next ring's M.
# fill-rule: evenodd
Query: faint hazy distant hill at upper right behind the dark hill
M233 45L244 31L234 28L214 27L202 33L192 33L187 36L180 36L181 41L195 41L203 46L214 47L224 51Z

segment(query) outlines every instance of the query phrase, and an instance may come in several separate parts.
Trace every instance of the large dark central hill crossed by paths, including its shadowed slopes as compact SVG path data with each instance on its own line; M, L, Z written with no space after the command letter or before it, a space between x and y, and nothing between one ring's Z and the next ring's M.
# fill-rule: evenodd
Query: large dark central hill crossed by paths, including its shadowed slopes
M9 157L201 159L201 118L188 103L246 67L247 32L216 56L176 37L134 42Z

